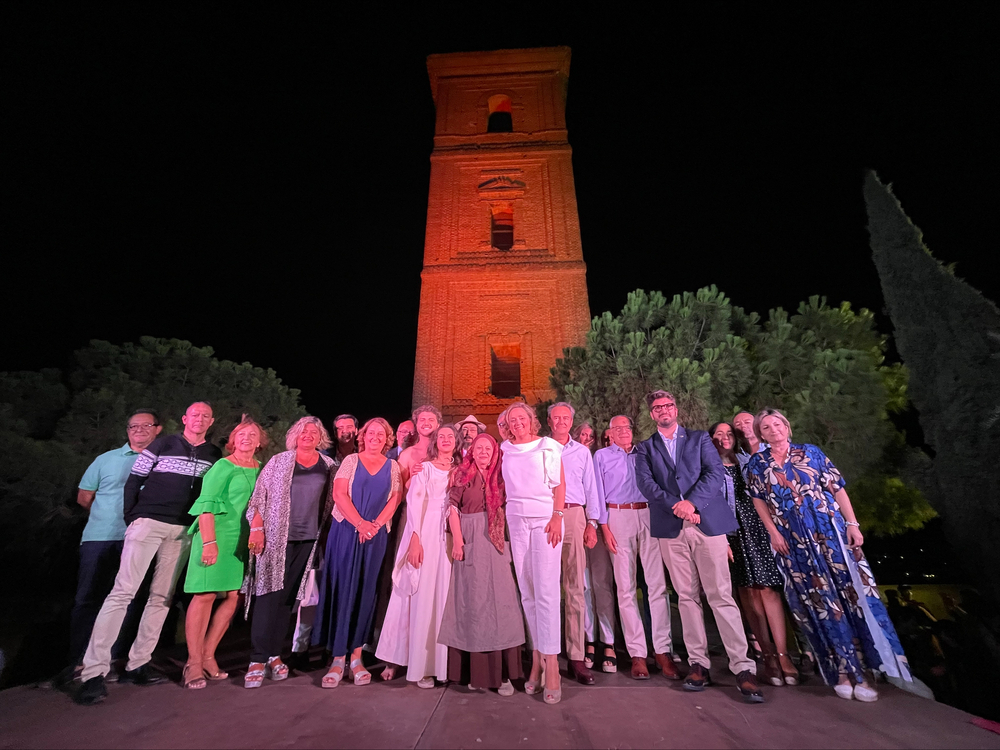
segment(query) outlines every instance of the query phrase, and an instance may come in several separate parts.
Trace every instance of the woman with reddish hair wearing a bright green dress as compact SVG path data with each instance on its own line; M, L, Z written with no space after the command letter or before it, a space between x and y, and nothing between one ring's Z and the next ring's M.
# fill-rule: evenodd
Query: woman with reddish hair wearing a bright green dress
M215 649L233 619L243 584L250 536L246 509L260 473L254 454L265 447L267 433L243 415L243 421L229 435L229 455L205 474L201 495L188 511L198 519L188 530L194 536L184 581L184 591L194 594L184 622L188 660L183 685L192 690L205 687L206 678L224 680L229 676L219 669ZM213 614L212 606L220 594L222 601Z

